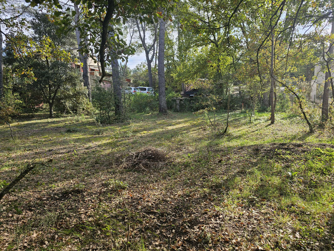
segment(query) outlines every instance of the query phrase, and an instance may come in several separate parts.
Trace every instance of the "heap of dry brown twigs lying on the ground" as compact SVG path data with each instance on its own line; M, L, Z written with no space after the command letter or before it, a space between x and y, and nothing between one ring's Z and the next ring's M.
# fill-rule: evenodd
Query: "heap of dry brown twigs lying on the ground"
M166 161L167 153L164 150L147 147L137 152L131 152L125 157L121 166L137 171L159 170Z

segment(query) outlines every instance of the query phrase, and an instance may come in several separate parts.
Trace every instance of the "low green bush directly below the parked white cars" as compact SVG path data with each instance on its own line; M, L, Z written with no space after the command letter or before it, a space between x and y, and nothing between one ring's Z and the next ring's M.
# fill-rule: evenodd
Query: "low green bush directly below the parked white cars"
M145 93L137 92L131 96L130 110L136 113L157 111L159 108L158 95L147 95Z

